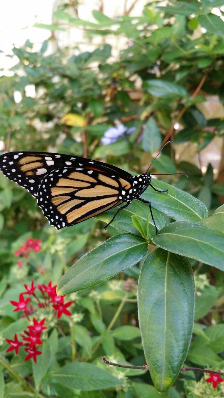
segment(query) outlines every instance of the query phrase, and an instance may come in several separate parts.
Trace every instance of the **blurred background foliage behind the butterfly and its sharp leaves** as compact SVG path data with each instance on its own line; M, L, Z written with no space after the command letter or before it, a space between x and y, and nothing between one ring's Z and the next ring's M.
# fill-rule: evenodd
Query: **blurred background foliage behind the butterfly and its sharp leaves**
M79 18L78 3L60 4L52 25L36 24L50 32L41 49L35 51L29 39L23 47L14 47L13 55L18 62L10 76L0 77L2 153L38 150L76 154L140 174L170 139L171 145L164 148L150 173L187 173L189 179L162 179L198 197L212 214L224 203L222 5L220 0L174 1L166 5L154 2L145 4L139 15L126 12L109 18L103 14L102 4L99 10L93 10L90 22ZM73 28L83 30L83 43L60 46L58 35ZM122 49L116 45L120 40ZM52 43L56 51L49 53ZM84 51L83 44L89 44L91 50ZM109 127L121 124L132 128L132 133L125 131L114 142L103 145L101 139ZM0 189L0 330L5 338L5 330L11 326L12 333L12 324L19 320L18 315L9 311L9 300L15 300L23 291L23 283L34 279L35 284L50 280L56 284L76 259L119 232L113 227L103 230L104 224L97 219L58 232L46 222L31 195L2 174ZM19 267L14 252L30 237L41 239L41 252ZM196 281L197 322L187 365L206 367L212 363L222 369L224 275L203 263L192 260L191 264ZM144 354L136 328L136 281L140 266L92 291L78 293L74 309L84 314L79 325L73 325L78 360L89 360L105 369L100 360L107 355L120 363L143 365ZM115 328L112 334L111 320ZM68 321L63 322L65 332L57 329L58 367L72 361L71 331L66 327ZM129 330L124 329L128 327ZM19 359L12 361L17 361L22 377L31 374L27 363L21 362L19 369ZM61 396L63 388L68 387L63 382L51 384L47 373L50 370L42 377L36 375L35 383L38 379L44 396ZM109 384L105 383L98 392L84 392L82 386L79 390L71 386L66 396L158 396L150 385L149 374L111 367L105 370L122 384L107 389ZM6 377L7 393L12 388L11 380ZM224 396L222 384L220 395L212 395L214 391L202 380L201 374L188 372L162 396ZM19 384L14 384L15 391L20 391Z

